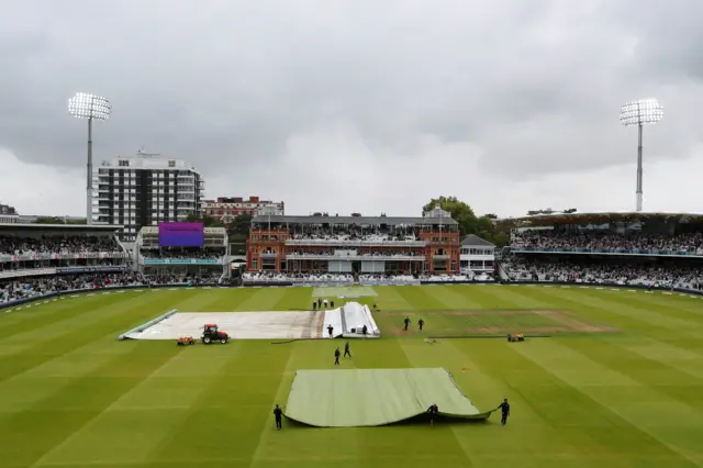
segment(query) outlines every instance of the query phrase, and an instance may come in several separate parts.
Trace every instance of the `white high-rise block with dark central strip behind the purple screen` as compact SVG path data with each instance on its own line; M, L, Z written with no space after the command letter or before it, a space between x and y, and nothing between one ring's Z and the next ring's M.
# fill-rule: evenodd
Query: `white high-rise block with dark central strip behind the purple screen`
M200 211L204 179L189 163L137 152L103 161L93 172L92 219L124 226L133 242L143 226L182 222Z

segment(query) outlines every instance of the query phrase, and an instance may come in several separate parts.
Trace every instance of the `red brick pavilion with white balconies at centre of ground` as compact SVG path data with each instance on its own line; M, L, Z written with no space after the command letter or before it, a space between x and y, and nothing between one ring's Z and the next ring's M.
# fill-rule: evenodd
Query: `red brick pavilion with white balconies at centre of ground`
M458 274L459 225L446 211L422 218L257 215L247 271Z

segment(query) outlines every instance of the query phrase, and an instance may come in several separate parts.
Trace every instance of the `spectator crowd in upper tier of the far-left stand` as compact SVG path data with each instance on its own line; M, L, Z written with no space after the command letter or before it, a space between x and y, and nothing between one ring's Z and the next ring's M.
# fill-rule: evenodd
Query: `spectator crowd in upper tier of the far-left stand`
M0 236L0 255L26 254L87 254L122 249L114 236Z

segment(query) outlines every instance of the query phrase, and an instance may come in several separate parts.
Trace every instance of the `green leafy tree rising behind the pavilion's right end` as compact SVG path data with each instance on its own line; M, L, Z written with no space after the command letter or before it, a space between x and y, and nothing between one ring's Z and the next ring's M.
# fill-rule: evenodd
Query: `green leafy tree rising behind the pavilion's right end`
M422 209L423 213L432 211L435 207L439 207L451 214L451 219L459 223L459 233L461 237L468 234L475 234L486 241L492 242L498 247L502 247L507 243L507 235L496 227L494 220L498 216L493 213L483 216L477 216L468 203L457 199L456 197L434 198Z

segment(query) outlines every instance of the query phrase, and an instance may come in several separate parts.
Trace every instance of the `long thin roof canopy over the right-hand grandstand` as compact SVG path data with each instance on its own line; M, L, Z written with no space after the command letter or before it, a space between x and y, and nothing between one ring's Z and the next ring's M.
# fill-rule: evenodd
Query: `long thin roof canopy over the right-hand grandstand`
M646 221L702 222L703 214L699 213L645 213L645 212L605 212L605 213L554 213L535 214L533 216L505 218L499 223L512 227L553 226L553 225L583 225L605 224L616 222Z

